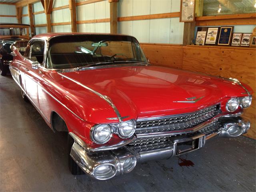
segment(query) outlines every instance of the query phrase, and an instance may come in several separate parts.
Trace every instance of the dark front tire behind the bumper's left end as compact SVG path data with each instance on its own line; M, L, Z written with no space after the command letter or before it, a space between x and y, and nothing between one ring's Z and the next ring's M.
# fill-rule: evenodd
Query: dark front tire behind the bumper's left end
M68 168L72 175L83 175L84 172L82 169L76 164L76 162L70 156L71 148L74 144L74 139L68 134Z

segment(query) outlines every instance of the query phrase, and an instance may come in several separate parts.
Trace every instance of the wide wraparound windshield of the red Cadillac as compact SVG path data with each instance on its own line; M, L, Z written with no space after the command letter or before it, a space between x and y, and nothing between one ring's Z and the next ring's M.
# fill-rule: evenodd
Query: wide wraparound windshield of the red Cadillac
M65 35L50 40L47 68L67 69L105 64L143 62L138 41L120 35Z

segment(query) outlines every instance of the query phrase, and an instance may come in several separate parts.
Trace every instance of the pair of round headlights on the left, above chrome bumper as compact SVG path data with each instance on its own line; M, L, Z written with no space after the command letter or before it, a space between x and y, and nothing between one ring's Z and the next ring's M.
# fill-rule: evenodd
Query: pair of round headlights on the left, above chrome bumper
M110 140L113 133L124 139L132 136L135 129L135 120L128 120L118 124L97 124L91 129L91 138L97 144L104 144Z

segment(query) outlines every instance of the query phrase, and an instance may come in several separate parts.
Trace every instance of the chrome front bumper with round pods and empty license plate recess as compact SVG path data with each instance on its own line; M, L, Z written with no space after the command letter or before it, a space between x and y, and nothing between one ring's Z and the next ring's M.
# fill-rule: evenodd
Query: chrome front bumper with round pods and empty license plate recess
M74 133L70 135L74 138L70 156L78 166L88 175L106 180L118 174L124 174L133 170L137 162L147 162L152 160L168 159L194 150L198 150L205 145L206 140L214 137L234 138L248 131L250 122L241 117L222 117L218 119L220 128L210 134L200 133L200 129L187 134L184 131L183 137L170 140L168 146L163 148L137 151L130 148L127 141L122 144L111 146L110 148L90 149ZM201 126L203 129L205 126ZM179 133L180 134L180 133ZM171 137L170 137L171 138ZM134 138L136 139L136 137ZM130 140L131 142L132 140ZM190 148L182 149L182 146L189 145ZM129 165L130 163L130 165ZM109 172L102 175L101 168L108 166ZM102 167L100 167L102 166ZM100 172L100 174L98 174Z

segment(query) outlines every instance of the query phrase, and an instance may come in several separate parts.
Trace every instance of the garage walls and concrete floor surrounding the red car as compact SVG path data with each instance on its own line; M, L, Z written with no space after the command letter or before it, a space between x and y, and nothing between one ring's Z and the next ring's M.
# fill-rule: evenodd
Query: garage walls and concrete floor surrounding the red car
M180 11L180 0L0 0L0 23L29 24L30 37L128 34L152 65L237 78L254 90L243 136L213 138L193 153L98 181L70 174L67 133L52 132L12 76L0 76L0 191L256 191L256 47L192 44L199 27L256 36L256 1L195 0L192 22L180 22Z

